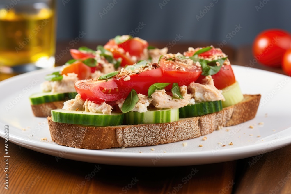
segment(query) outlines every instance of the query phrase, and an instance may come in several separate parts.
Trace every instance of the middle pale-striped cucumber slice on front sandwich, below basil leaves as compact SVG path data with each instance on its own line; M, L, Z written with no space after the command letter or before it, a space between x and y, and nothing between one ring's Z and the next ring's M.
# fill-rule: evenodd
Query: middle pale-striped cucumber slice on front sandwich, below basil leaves
M145 113L130 111L124 115L125 124L154 124L179 120L179 109L149 110Z

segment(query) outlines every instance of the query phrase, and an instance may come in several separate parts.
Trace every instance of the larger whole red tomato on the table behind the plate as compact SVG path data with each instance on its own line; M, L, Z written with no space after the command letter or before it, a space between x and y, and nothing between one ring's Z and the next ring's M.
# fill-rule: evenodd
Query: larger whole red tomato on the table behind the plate
M282 56L291 48L291 35L280 29L270 29L261 32L253 42L253 55L260 63L279 67Z

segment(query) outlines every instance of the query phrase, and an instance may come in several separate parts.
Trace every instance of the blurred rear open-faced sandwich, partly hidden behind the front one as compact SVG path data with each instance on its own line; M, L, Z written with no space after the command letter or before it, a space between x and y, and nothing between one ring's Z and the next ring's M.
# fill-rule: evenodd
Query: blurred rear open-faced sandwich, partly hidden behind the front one
M167 48L148 47L148 42L129 35L116 36L96 50L80 47L71 49L73 59L63 65L60 72L45 76L41 93L30 96L33 114L37 117L51 115L51 110L63 108L63 103L76 96L74 82L82 79L98 78L104 74L120 70L139 60L157 62L159 56L166 54Z

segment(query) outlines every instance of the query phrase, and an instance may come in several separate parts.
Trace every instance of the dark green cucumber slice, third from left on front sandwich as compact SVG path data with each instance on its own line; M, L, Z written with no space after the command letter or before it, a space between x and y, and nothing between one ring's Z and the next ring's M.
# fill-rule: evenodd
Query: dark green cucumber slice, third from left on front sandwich
M222 110L221 100L211 102L198 102L179 108L180 118L196 117Z

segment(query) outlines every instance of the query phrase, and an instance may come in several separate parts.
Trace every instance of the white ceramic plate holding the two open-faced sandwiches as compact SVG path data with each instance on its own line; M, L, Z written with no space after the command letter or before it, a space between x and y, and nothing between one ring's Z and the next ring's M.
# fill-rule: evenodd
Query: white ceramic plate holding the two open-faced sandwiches
M291 143L290 77L233 65L242 92L262 94L258 113L253 120L214 131L207 135L205 141L202 140L203 137L200 137L156 146L104 150L61 146L52 142L47 119L34 117L29 103L29 95L40 91L40 83L44 81L44 76L56 70L58 68L38 70L0 82L0 136L2 138L4 125L9 125L10 142L37 152L57 156L56 160L67 158L129 166L217 163L261 155ZM264 124L259 125L261 122ZM250 129L250 125L254 128ZM45 137L48 141L40 141ZM187 145L183 146L182 143L186 142ZM230 142L233 145L229 145ZM203 147L199 147L200 144Z

